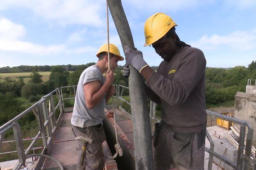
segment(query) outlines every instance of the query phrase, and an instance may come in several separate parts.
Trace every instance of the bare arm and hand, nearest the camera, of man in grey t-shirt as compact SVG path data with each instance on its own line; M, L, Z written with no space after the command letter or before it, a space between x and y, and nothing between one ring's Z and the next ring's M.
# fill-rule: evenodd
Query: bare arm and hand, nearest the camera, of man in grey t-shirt
M105 75L106 82L101 86L100 81L92 81L84 84L84 97L87 108L93 109L105 97L114 79L112 71Z

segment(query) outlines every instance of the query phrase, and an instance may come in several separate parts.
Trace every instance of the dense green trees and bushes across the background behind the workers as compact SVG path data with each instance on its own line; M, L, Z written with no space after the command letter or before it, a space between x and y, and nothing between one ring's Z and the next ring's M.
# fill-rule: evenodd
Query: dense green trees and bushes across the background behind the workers
M55 88L67 85L77 85L79 77L85 68L94 65L94 62L86 65L76 65L76 70L69 72L63 65L55 65L50 68L50 76L47 82L42 81L38 73L40 66L31 66L32 74L30 80L25 83L23 78L12 80L5 78L0 82L0 125L7 122L11 117L21 113L21 102L17 97L24 97L30 102L38 101L42 95L48 94ZM19 66L20 69L25 67ZM122 76L123 66L118 66L115 71L114 84L128 86L128 78ZM156 70L156 67L153 68ZM244 92L247 79L256 78L256 61L251 62L248 67L236 66L234 68L206 68L206 104L215 105L221 102L234 100L236 91ZM38 95L38 94L41 94ZM124 94L128 95L128 94Z

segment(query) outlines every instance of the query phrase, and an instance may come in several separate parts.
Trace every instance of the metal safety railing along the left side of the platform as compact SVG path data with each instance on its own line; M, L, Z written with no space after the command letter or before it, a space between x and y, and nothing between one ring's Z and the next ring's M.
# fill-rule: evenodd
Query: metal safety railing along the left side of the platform
M58 102L56 105L54 102L53 95L57 96ZM35 137L32 138L32 141L29 144L29 146L26 149L24 149L23 135L21 133L20 124L18 123L18 121L31 112L34 113L38 121L39 131L35 135ZM46 96L43 96L34 105L32 105L31 107L29 107L28 109L17 115L15 118L13 118L12 120L10 120L9 122L5 123L0 127L0 148L3 142L8 142L4 141L4 134L6 133L6 131L12 129L14 133L17 157L19 162L15 165L13 170L19 170L22 166L25 165L26 158L31 157L29 155L29 152L35 149L34 146L39 139L42 140L43 143L43 149L41 154L47 154L47 150L49 150L52 144L52 137L58 130L58 127L61 123L62 115L63 109L61 105L61 94L59 88L56 88L51 93L47 94ZM56 116L58 116L58 119L56 119ZM41 164L42 163L43 160L41 161ZM38 163L38 166L40 167L41 165Z

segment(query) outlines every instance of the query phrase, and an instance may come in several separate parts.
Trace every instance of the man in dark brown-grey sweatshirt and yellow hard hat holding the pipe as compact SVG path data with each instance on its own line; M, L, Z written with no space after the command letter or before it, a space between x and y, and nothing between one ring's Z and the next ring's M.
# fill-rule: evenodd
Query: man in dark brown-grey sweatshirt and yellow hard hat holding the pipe
M162 105L161 122L155 125L154 169L204 169L206 132L206 59L198 48L180 41L177 24L157 13L145 22L145 45L152 45L162 57L157 72L143 59L141 51L125 46L128 65L136 68L146 82L148 98ZM125 68L124 74L129 74Z

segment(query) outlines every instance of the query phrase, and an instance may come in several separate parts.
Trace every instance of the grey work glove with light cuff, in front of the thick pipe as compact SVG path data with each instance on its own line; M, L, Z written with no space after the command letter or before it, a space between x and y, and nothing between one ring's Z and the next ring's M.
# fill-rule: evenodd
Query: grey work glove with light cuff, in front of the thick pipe
M125 45L125 60L128 65L136 68L139 72L141 72L143 68L148 66L148 64L143 59L142 52L137 49L134 50L128 45Z

